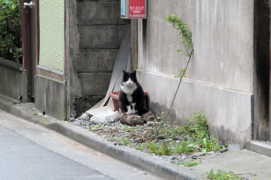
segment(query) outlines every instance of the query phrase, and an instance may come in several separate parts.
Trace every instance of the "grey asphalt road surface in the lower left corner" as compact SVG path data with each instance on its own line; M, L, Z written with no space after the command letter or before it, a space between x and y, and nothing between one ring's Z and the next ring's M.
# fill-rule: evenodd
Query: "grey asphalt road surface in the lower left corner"
M0 110L0 179L161 179Z

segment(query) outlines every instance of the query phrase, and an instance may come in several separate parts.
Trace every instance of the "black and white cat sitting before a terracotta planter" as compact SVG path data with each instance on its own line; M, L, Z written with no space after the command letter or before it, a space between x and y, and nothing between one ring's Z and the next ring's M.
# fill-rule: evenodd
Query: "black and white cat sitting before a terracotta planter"
M125 114L138 113L139 115L148 112L149 110L144 108L145 94L137 80L137 71L122 71L123 78L118 95L121 111Z

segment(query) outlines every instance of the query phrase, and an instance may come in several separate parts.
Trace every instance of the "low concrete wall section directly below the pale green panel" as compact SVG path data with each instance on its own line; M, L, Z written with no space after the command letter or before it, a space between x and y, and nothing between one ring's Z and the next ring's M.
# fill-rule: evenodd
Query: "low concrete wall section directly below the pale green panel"
M42 75L35 76L35 106L46 115L66 120L66 84Z

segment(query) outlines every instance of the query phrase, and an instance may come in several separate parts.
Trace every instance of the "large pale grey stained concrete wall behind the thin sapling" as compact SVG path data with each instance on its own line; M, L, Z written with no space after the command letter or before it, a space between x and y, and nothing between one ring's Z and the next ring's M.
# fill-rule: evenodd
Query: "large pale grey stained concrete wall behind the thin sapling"
M163 18L180 16L193 33L194 54L169 119L184 123L203 110L223 143L251 139L253 109L253 0L149 0L139 20L139 80L151 109L167 111L187 57L178 31Z

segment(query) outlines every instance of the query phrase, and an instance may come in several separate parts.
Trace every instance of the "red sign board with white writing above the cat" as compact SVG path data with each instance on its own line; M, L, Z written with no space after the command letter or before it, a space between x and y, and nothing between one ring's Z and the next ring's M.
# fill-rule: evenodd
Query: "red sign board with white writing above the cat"
M147 0L121 0L121 18L147 18Z

